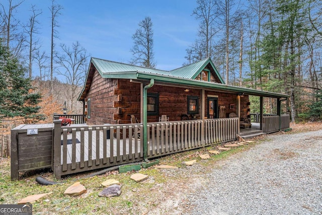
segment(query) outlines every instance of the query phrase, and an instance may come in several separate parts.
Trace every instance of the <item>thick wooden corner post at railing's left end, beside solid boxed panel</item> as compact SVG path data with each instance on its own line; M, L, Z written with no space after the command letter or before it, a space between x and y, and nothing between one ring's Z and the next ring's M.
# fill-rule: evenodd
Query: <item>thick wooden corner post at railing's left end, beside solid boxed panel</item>
M60 147L60 139L61 139L61 121L54 120L54 129L53 129L53 167L54 175L57 179L61 177L61 147Z

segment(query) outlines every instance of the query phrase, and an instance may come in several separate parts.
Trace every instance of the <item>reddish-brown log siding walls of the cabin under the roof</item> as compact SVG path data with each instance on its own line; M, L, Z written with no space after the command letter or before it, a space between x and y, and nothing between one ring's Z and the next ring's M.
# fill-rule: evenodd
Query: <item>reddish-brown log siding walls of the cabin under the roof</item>
M199 106L201 106L200 90L190 89L189 92L185 92L184 89L160 85L154 85L148 89L148 93L159 95L159 113L148 115L147 122L156 122L161 115L169 116L170 121L180 121L181 116L188 111L188 96L198 97ZM103 79L96 71L87 97L91 98L91 118L87 119L87 123L89 125L126 124L131 123L132 114L140 119L140 90L140 83L122 79ZM235 93L206 91L204 101L207 101L207 95L218 96L218 106L225 106L225 117L228 117L231 112L236 113L237 95ZM249 102L248 96L241 97L241 112L247 110L247 102ZM234 109L229 109L230 104L234 104ZM205 113L207 113L207 102L205 102ZM240 116L247 117L247 113L243 113ZM200 118L200 115L196 116Z

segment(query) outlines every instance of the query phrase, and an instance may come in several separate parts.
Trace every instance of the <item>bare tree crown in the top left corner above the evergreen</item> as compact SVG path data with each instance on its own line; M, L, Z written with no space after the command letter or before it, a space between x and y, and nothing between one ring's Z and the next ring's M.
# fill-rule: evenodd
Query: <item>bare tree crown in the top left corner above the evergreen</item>
M24 48L25 36L22 32L19 31L21 28L20 22L15 19L14 13L17 8L24 1L18 2L16 5L13 5L13 0L8 0L9 7L6 9L6 6L0 4L2 11L0 11L1 17L1 34L4 36L4 45L10 48L11 53L14 56L21 57L20 54Z

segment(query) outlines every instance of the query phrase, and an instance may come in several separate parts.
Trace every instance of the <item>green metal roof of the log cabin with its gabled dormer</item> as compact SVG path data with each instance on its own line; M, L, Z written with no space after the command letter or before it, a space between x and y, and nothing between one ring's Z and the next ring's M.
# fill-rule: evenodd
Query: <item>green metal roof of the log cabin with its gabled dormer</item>
M154 79L155 82L175 84L178 87L195 87L199 89L219 90L230 93L245 93L248 95L273 98L289 97L289 95L286 94L266 92L249 88L228 86L221 83L195 80L195 77L202 71L202 69L204 69L204 67L210 63L215 73L218 75L218 78L220 79L220 81L222 81L222 78L220 77L218 71L214 67L210 58L171 71L130 65L126 63L103 60L99 58L92 58L89 71L86 77L86 84L83 88L81 95L79 95L79 100L86 98L86 94L91 86L91 79L93 78L92 73L94 73L94 71L91 70L92 63L103 78L133 80ZM222 83L224 82L222 81Z

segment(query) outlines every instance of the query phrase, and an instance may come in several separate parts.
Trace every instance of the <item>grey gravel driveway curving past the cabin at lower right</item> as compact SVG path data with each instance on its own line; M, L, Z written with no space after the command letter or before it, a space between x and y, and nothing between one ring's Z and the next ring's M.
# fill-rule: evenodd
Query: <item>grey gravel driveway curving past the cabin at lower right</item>
M267 138L204 175L180 214L322 214L322 130Z

